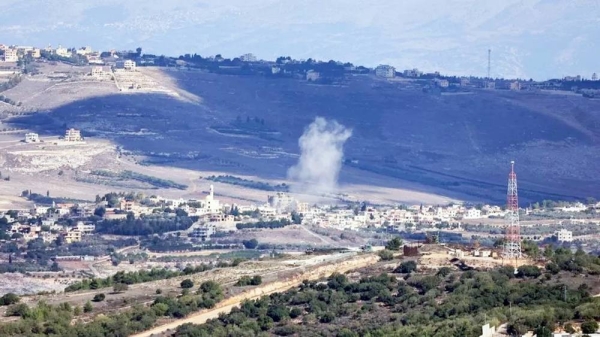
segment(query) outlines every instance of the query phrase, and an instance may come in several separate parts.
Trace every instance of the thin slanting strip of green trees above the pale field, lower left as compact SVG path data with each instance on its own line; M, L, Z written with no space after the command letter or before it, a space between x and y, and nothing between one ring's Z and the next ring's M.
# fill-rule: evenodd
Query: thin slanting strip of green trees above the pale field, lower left
M239 262L236 262L239 264ZM183 270L169 270L167 268L153 268L150 270L140 270L133 272L120 271L114 274L112 277L102 279L85 279L81 282L76 282L65 288L65 292L78 291L78 290L89 290L89 289L100 289L113 287L116 284L136 284L151 282L156 280L166 280L173 277L182 275L192 275L201 273L212 269L213 267L208 264L200 264L197 266L186 266Z

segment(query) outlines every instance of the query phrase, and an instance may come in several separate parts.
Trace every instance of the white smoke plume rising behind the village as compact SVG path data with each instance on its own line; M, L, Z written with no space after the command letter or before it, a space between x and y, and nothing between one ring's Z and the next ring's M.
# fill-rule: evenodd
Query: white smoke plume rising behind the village
M352 130L331 120L316 117L298 140L300 159L288 170L295 182L294 192L309 194L334 193L342 168L344 143Z

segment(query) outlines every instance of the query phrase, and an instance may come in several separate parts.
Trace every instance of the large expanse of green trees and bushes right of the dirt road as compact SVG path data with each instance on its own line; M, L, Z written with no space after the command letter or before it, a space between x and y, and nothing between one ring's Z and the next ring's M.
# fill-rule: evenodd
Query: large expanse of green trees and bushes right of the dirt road
M572 329L573 320L583 322L584 333L598 329L600 300L590 288L562 284L550 271L540 277L535 266L522 266L516 276L511 267L446 267L425 275L416 270L414 261L405 261L395 270L402 278L381 274L350 282L334 274L327 284L305 281L298 289L245 301L204 325L182 325L175 335L479 336L486 322L508 322L511 335L533 330L545 337L559 324ZM296 318L303 324L291 321Z

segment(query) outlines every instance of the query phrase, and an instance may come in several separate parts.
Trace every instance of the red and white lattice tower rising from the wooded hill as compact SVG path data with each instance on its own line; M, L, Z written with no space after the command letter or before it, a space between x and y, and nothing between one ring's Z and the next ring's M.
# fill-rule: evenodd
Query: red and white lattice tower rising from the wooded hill
M517 174L515 162L510 162L508 174L508 191L506 196L506 242L504 243L503 257L505 259L518 259L521 257L521 225L519 223L519 197L517 194Z

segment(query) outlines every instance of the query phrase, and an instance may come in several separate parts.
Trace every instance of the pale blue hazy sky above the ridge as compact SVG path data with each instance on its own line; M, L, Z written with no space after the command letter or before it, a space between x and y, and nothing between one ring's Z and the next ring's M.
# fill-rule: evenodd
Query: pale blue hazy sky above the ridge
M0 44L389 64L544 80L600 73L599 0L1 0Z

